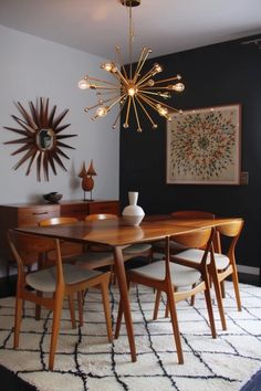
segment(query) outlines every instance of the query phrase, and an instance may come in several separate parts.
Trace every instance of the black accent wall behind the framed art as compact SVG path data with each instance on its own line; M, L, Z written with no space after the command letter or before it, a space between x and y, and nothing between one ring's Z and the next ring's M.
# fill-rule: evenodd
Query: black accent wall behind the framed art
M166 121L156 116L158 129L152 129L140 115L143 133L136 131L134 118L128 129L121 129L119 198L123 209L128 203L127 192L138 191L138 204L146 214L194 209L242 216L246 225L238 244L238 263L260 267L261 49L241 44L249 39L169 54L146 64L149 68L158 62L166 77L182 75L186 89L169 101L170 106L190 109L242 105L241 171L249 172L249 184L167 184Z

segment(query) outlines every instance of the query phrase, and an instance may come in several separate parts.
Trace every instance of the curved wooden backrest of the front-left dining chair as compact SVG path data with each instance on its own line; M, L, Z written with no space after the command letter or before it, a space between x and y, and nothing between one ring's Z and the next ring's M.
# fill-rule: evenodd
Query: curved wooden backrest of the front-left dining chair
M55 251L55 258L59 263L58 267L61 268L62 273L62 260L59 240L30 235L10 229L8 231L8 241L14 260L18 264L19 277L25 276L24 266L28 265L28 254L30 254L30 258L34 256L34 263L39 264L44 260L45 255L50 251ZM30 262L30 264L32 262Z

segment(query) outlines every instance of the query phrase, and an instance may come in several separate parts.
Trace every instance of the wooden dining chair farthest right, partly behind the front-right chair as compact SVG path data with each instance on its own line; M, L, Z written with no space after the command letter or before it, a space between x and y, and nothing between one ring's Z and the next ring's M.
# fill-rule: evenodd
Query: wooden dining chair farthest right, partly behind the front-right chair
M234 249L238 243L240 233L243 228L243 220L238 219L230 223L216 226L216 246L213 257L208 257L208 273L213 283L218 309L220 314L222 329L227 330L227 323L222 303L222 286L221 283L229 276L232 276L234 294L238 305L238 310L241 310L241 300L238 284L238 272L234 256ZM221 242L222 239L229 240L226 243L228 250L223 252ZM171 257L171 261L185 266L195 266L200 263L203 251L200 249L189 249Z

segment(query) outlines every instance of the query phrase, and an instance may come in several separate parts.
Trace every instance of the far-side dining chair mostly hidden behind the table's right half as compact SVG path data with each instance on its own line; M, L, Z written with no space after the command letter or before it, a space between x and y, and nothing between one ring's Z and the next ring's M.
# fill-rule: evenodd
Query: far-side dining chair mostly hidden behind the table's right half
M185 219L215 219L215 214L211 212L206 211L195 211L195 210L184 210L184 211L176 211L170 213L170 216L177 220L185 220ZM170 254L178 254L181 251L186 250L184 245L176 242L174 237L170 239L169 242L169 251ZM155 242L153 245L153 252L164 253L165 252L165 242L158 241Z

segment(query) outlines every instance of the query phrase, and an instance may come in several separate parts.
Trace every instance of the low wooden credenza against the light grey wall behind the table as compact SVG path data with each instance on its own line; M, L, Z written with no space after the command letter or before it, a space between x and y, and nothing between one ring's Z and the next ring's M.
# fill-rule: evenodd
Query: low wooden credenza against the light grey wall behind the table
M117 200L61 201L60 203L17 203L0 205L0 255L10 260L7 231L15 226L38 225L41 220L73 216L84 220L93 213L119 214Z

